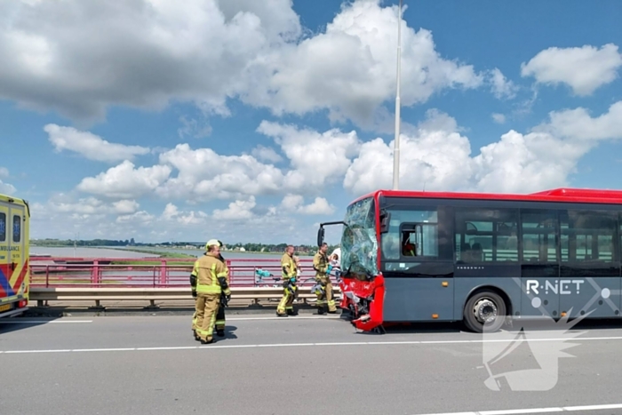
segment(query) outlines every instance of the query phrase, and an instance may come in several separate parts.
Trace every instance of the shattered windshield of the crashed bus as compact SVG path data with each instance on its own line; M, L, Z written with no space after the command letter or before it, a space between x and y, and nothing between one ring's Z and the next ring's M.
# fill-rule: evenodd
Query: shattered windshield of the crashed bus
M341 269L344 276L367 279L378 275L378 239L373 197L347 207L341 236Z

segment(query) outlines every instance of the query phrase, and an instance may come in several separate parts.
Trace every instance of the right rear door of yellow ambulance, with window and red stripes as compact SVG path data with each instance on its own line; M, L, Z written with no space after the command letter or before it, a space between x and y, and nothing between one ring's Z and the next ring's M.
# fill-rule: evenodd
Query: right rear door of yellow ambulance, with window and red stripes
M10 221L8 219L11 219ZM14 295L22 294L24 277L28 273L25 267L28 259L26 252L26 238L24 237L25 208L23 205L11 204L7 218L7 237L9 242L9 272L11 275L10 283ZM10 223L10 226L9 226Z

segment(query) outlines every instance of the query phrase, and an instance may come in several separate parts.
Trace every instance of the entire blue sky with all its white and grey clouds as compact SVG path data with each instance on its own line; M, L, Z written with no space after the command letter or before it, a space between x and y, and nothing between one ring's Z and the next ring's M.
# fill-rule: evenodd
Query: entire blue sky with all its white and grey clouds
M36 238L313 243L391 187L395 4L3 2L0 192ZM618 1L404 4L401 188L619 187Z

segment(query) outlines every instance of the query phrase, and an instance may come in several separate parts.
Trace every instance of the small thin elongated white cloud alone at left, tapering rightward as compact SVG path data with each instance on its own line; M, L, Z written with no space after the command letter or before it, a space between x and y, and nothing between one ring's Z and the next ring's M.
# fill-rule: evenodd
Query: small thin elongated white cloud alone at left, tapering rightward
M57 153L63 150L74 151L89 160L119 162L149 153L149 148L110 143L91 132L81 132L72 127L47 124L44 131L49 134L49 140Z

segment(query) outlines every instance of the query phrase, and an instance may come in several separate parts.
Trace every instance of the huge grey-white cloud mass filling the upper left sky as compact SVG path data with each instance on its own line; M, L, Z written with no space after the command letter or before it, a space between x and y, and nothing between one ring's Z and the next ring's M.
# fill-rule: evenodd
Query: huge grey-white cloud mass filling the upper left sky
M326 108L332 120L385 124L397 10L381 3L344 4L323 33L309 34L291 0L2 2L0 99L92 121L110 106L171 101L228 116L227 100L239 98L275 114ZM472 66L444 59L430 31L402 25L403 105L483 84ZM181 122L181 135L210 132L195 119Z

